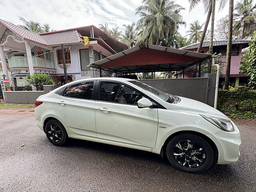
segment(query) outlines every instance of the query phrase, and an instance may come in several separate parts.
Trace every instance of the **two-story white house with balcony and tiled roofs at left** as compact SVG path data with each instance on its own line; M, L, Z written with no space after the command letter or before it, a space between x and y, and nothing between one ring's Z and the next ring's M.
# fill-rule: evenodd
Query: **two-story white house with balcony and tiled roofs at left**
M89 40L86 45L84 37ZM63 84L62 44L68 81L99 76L97 69L88 66L90 63L128 49L93 25L35 34L0 19L2 70L13 84L26 84L26 74L35 71L49 74L55 84ZM8 58L10 73L5 57ZM103 76L112 73L102 71Z

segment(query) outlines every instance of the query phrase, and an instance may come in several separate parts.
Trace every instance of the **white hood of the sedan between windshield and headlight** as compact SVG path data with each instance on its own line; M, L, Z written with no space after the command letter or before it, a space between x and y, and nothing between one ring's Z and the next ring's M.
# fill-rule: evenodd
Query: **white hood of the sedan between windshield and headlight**
M196 113L196 114L204 114L209 116L215 116L215 117L221 117L221 118L228 118L226 115L224 115L219 110L214 109L213 107L204 104L202 102L180 97L180 102L176 104L172 104L172 107L176 111L182 111L182 112L190 112L190 113Z

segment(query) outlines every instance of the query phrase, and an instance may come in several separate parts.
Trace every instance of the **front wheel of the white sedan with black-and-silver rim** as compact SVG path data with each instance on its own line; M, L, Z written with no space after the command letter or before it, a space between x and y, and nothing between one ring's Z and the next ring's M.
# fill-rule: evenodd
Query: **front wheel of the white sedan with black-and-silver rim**
M174 136L166 146L166 156L174 167L190 173L203 172L214 159L210 144L195 134Z

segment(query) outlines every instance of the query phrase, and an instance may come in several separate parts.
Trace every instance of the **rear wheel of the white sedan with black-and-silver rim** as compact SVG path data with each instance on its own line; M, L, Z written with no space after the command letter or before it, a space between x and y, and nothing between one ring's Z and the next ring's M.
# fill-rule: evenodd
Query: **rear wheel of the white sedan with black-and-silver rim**
M46 123L45 133L48 140L56 146L64 145L68 139L66 129L61 122L55 119L51 119Z

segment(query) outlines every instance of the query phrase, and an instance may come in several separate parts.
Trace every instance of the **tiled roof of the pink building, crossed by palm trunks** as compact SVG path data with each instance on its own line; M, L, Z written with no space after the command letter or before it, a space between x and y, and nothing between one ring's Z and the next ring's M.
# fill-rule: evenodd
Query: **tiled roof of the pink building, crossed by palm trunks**
M222 45L227 45L227 40L222 40L222 41L214 41L213 46L222 46ZM232 45L233 44L248 44L252 42L251 40L232 40ZM191 44L185 47L182 47L180 49L188 50L188 49L195 49L198 48L199 43ZM204 41L202 44L202 47L209 47L210 46L210 41Z

